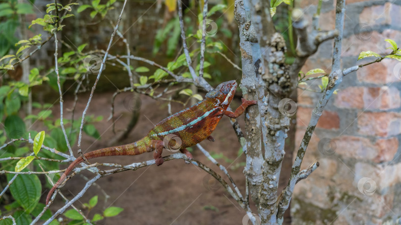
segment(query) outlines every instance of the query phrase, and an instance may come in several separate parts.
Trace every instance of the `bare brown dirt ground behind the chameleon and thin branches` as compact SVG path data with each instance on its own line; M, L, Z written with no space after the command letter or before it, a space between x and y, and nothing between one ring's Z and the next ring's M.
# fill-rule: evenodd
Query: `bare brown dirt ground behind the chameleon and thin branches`
M89 94L80 96L76 112L82 113L87 103ZM116 130L125 128L130 119L129 110L132 108L131 93L120 94L116 98L115 118ZM64 117L70 118L71 112L67 109L72 107L72 98L66 97L64 100ZM142 108L139 122L124 143L134 142L144 137L153 125L168 116L167 105L162 101L152 100L150 97L141 97ZM104 120L96 123L95 126L100 132L101 139L95 140L92 137L83 135L82 150L91 151L108 147L108 142L115 137L111 125L112 122L106 121L110 115L111 93L95 93L88 114L95 116L102 115ZM240 105L240 100L235 99L231 104L232 108ZM182 106L173 105L172 112L182 110ZM59 108L54 107L53 115L59 113ZM78 114L79 114L78 113ZM77 115L79 117L80 115ZM238 120L241 127L244 127L242 115ZM233 180L245 193L245 179L243 166L237 169L230 169L237 163L245 162L245 155L237 156L240 144L233 132L233 128L227 117L218 124L213 133L214 143L203 141L201 145L209 152L224 153L233 162L226 162L224 159L218 161L228 168ZM119 143L119 144L124 144ZM76 152L76 145L74 146ZM211 163L200 150L193 148L193 156L203 162L226 181L227 177L217 166ZM171 152L163 152L167 155ZM77 156L77 154L75 153ZM119 164L130 164L141 162L152 158L152 153L144 153L137 156L113 156L92 159L91 162L116 162ZM67 166L67 165L65 165ZM93 177L90 172L84 173L89 178ZM61 188L61 191L69 198L73 198L85 185L82 176L75 176ZM220 184L215 183L214 179L192 164L185 164L183 160L171 160L161 166L152 165L141 168L137 171L125 171L101 178L86 192L80 199L80 203L88 202L94 195L99 195L99 203L96 209L89 213L92 218L95 213L100 213L109 206L124 208L117 217L109 218L97 224L138 224L138 225L242 225L243 217L246 212L239 207L238 203L225 191ZM43 197L46 196L46 190ZM109 195L105 202L104 192ZM61 197L57 196L56 202L50 207L55 212L63 205ZM81 204L75 204L82 207ZM251 205L253 203L251 202ZM253 207L252 210L256 212Z

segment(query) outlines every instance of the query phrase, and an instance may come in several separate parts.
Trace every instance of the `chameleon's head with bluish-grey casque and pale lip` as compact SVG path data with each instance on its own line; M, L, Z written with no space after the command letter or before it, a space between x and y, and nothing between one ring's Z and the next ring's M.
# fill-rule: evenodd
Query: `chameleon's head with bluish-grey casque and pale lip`
M217 100L217 104L223 108L230 105L231 100L234 98L235 90L237 89L237 82L235 80L226 81L219 84L215 89L206 94L206 98L213 98Z

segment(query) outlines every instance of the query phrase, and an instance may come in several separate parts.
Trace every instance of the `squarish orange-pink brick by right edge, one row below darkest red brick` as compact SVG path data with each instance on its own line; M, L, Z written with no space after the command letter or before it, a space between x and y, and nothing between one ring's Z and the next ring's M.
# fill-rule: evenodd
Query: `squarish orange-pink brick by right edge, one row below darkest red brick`
M394 155L397 153L398 146L399 142L397 138L378 139L375 144L377 156L373 161L380 163L393 160Z

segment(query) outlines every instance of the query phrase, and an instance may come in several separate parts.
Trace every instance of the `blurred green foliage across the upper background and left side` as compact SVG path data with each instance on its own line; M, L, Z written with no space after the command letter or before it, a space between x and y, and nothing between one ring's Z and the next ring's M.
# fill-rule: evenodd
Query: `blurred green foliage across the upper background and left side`
M277 32L287 41L287 61L291 63L295 52L294 34L289 16L292 2L272 1L275 7L273 17ZM60 84L65 96L76 96L89 92L97 73L90 73L88 65L83 63L88 55L100 59L104 56L110 34L120 13L122 0L83 0L71 3L59 0L54 3L46 0L1 0L0 1L0 146L11 139L35 137L38 131L32 128L40 126L46 130L43 144L61 152L67 152L67 145L60 127L59 115L52 113L52 103L58 101L57 75L54 68L54 33L59 40L58 67ZM184 23L191 56L195 58L194 68L199 75L200 40L203 1L183 0ZM279 6L280 7L277 7ZM118 9L118 10L117 10ZM57 16L58 15L58 16ZM239 31L234 18L234 0L209 1L206 37L206 53L203 76L216 85L230 79L240 79L241 51ZM213 27L215 25L215 27ZM290 25L290 27L289 27ZM215 31L213 29L216 29ZM132 55L143 57L162 65L177 75L190 77L182 51L182 40L177 15L176 0L129 0L120 23L121 36L114 38L110 50L111 56L127 55L127 45ZM31 57L32 56L32 57ZM92 60L92 59L90 59ZM126 60L126 59L124 59ZM230 60L231 62L229 62ZM23 70L23 64L25 69ZM90 62L94 63L93 61ZM26 66L27 65L27 66ZM129 67L108 60L102 72L97 92L114 92L130 86L127 68L133 74L133 86L150 84L145 91L154 96L168 84L159 82L168 79L168 74L141 61L131 60ZM171 77L170 77L171 78ZM113 85L110 85L110 82ZM172 83L175 84L175 83ZM197 89L188 84L177 84L173 94L201 100ZM188 103L188 101L183 101ZM108 107L107 107L108 108ZM35 113L33 113L35 112ZM77 112L78 113L78 112ZM84 132L95 139L100 138L94 123L104 120L101 116L89 115L85 118ZM64 118L66 133L70 145L77 141L81 118ZM40 125L38 125L40 124ZM135 126L135 124L134 124ZM17 141L0 150L1 158L25 157L33 155L30 145ZM48 150L40 151L37 156L63 159ZM217 157L217 156L216 156ZM1 161L0 170L14 171L16 160ZM28 163L29 164L29 163ZM23 171L50 171L59 169L58 162L33 160ZM1 215L14 215L17 224L29 224L43 209L40 203L43 186L50 188L46 177L37 175L7 174L0 176L0 183L5 187L14 180L9 190L1 193ZM55 180L58 177L55 177ZM86 210L96 205L95 200L88 203ZM96 200L97 201L97 200ZM118 208L118 207L116 207ZM107 209L103 215L95 215L93 222L105 217L115 216L122 209ZM50 218L50 211L42 220ZM83 224L83 217L76 212L66 211L64 216L71 224ZM64 222L63 222L64 223ZM11 224L11 220L1 220L0 225ZM52 224L60 224L53 221Z

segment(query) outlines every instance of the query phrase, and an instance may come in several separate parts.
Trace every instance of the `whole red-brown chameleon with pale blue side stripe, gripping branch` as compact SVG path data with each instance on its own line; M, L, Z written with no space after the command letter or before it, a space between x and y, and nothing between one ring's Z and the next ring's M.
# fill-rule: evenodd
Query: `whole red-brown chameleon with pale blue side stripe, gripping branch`
M164 148L168 148L166 144L169 145L168 140L166 143L165 139L174 137L176 145L180 144L180 151L189 159L192 159L192 154L186 148L195 146L205 139L213 141L214 139L210 134L214 131L223 115L237 118L245 112L248 106L256 104L256 101L242 99L241 106L235 112L227 111L236 89L237 82L235 80L221 83L208 92L203 101L170 115L157 123L144 138L126 145L94 150L84 154L84 156L86 159L92 159L112 155L138 155L154 150L153 158L156 165L159 166L163 164L161 153ZM177 140L181 143L177 143ZM61 178L50 189L46 204L49 203L52 193L64 182L66 176L83 161L83 157L80 156L68 166Z

